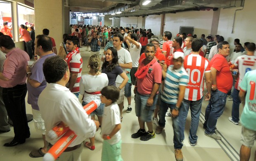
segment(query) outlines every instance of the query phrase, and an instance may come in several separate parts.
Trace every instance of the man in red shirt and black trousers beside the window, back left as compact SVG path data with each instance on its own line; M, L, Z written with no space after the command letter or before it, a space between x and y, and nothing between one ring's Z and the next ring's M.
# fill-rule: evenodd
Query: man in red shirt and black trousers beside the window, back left
M21 27L21 36L19 37L19 39L23 39L26 45L26 52L29 55L29 58L32 59L32 39L30 37L29 32L25 29L25 26L23 24L20 25Z

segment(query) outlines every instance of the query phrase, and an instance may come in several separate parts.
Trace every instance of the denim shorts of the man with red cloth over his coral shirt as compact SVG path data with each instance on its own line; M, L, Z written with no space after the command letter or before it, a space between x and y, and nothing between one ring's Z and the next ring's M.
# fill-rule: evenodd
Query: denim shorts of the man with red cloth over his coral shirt
M158 99L158 94L154 97L153 105L148 107L147 99L150 95L140 95L138 92L135 96L135 113L137 117L144 122L151 122L151 116L154 113L154 109L156 109L156 102Z

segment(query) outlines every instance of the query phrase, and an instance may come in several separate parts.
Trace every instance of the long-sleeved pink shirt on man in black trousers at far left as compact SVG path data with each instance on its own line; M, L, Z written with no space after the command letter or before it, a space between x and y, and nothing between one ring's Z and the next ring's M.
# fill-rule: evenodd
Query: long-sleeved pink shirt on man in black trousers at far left
M0 80L0 86L12 88L16 85L25 84L27 79L26 67L29 60L28 54L19 48L14 48L7 53L2 76L9 80Z

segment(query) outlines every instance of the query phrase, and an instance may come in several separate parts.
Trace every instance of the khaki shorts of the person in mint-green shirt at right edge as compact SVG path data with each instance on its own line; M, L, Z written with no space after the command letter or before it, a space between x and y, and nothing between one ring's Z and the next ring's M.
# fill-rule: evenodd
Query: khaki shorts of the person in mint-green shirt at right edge
M245 128L242 125L241 140L240 142L246 147L253 147L256 140L256 131Z

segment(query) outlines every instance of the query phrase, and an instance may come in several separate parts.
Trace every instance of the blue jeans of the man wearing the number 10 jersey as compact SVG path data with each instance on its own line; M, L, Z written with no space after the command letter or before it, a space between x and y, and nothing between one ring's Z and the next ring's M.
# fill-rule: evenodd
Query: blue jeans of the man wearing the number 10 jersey
M183 99L183 106L184 108L180 109L183 110L181 116L181 130L182 130L182 140L184 140L184 130L185 130L185 123L187 119L187 113L190 108L191 112L191 124L190 124L190 135L189 140L192 144L197 142L197 128L199 124L199 116L201 112L203 97L197 101L189 101L187 99Z

